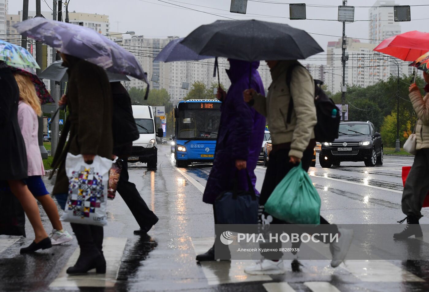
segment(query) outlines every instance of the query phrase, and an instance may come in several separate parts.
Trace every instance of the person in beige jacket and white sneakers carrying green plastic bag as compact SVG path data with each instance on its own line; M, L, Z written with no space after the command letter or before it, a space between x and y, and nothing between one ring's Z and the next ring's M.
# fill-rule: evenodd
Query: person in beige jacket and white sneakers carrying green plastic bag
M272 151L269 155L259 204L265 205L275 187L298 163L308 171L313 157L314 126L317 123L316 107L314 105L314 80L297 60L266 61L272 76L267 97L256 93L252 89L245 90L244 99L267 118L272 140ZM287 85L287 74L291 68L290 88ZM288 110L290 99L293 107L288 123ZM272 218L271 224L285 224L282 220L264 212L265 218ZM330 225L322 216L324 232L338 233L335 225ZM332 267L338 266L347 254L353 233L350 230L341 230L338 243L332 243ZM281 242L260 244L261 248L275 250L281 248ZM281 251L262 252L263 260L254 266L245 268L248 274L283 274L284 263L281 260Z

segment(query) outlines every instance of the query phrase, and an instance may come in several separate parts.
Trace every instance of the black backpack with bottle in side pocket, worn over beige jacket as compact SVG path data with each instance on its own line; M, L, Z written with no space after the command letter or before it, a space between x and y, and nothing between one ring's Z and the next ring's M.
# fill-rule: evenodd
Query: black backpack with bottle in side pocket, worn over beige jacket
M295 63L289 66L286 72L286 84L289 87L292 79L292 72L296 66L302 66ZM317 124L314 126L314 135L318 142L332 142L338 138L338 129L341 116L334 101L330 99L322 89L323 81L314 79L314 105L316 106ZM293 99L292 93L287 110L286 122L290 123L292 117Z

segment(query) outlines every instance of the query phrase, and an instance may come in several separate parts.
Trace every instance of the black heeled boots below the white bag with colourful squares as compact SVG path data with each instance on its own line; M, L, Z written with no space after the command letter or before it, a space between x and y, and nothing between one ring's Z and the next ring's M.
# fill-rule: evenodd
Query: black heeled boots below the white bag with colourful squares
M80 247L76 264L69 267L67 274L85 274L95 268L99 274L106 274L106 260L101 250L103 244L103 227L71 223ZM100 248L100 250L99 250Z

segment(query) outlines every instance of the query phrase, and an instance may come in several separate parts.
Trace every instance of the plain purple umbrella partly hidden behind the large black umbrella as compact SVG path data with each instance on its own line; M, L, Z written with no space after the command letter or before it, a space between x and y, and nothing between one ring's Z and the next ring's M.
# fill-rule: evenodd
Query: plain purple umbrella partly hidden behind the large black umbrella
M173 39L157 55L154 61L174 62L174 61L199 61L214 58L212 56L199 55L180 42L181 39Z

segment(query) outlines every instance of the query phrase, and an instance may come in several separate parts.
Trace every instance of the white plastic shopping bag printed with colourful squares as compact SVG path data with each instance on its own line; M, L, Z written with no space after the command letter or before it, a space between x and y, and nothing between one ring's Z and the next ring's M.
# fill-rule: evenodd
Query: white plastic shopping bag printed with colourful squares
M111 167L112 160L98 155L93 163L88 164L81 154L67 153L69 193L62 221L98 226L107 224L107 188Z

